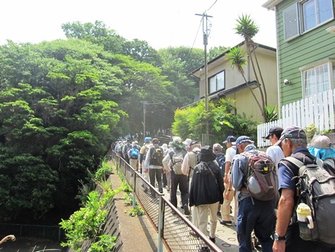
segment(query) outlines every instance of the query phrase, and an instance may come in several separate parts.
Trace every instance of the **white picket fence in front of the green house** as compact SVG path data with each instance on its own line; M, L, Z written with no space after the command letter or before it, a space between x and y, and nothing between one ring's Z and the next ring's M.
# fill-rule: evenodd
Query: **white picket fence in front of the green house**
M264 141L264 137L269 134L269 129L274 126L285 129L290 125L302 128L315 125L319 132L335 129L334 106L335 89L283 105L280 120L257 126L257 146L267 147L271 145L269 140Z

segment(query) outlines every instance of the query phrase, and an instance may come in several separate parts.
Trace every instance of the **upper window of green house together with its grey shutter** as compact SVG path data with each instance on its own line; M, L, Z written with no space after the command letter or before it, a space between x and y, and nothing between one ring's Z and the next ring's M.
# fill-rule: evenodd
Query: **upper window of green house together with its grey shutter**
M333 0L302 0L283 10L284 40L291 40L334 18Z

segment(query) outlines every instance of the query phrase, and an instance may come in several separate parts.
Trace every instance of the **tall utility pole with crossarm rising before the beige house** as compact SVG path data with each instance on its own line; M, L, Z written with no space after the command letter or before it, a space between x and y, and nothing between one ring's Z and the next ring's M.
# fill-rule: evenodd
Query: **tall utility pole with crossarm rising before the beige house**
M205 110L208 112L208 80L207 80L207 45L208 45L208 18L213 18L213 16L208 16L206 11L202 14L196 14L196 16L202 16L202 32L204 34L204 71L205 71ZM206 21L206 24L205 24ZM208 122L206 123L206 134L208 136Z

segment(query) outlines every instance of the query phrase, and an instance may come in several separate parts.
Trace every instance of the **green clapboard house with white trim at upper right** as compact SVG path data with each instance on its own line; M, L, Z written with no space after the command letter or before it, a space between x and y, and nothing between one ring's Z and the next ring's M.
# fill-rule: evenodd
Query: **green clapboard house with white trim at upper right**
M334 0L269 0L276 11L278 108L335 88Z

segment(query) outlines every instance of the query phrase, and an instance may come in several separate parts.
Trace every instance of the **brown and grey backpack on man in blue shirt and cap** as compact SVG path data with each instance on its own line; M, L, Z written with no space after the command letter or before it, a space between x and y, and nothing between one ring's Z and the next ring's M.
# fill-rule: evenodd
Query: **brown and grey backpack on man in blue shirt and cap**
M247 151L241 155L249 160L247 181L242 193L262 201L274 199L278 193L278 177L269 156L264 151Z

